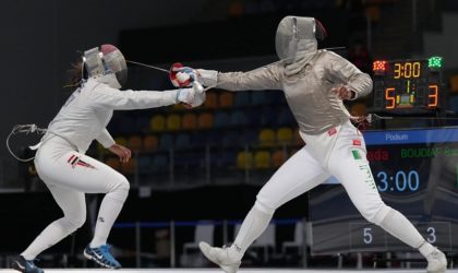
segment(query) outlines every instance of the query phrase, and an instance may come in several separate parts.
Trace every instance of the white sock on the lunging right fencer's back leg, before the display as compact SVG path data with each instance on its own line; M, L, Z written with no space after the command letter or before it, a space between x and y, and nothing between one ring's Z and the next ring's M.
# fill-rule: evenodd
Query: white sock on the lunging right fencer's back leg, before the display
M418 249L424 242L424 238L412 223L401 213L390 207L379 226L412 248Z

